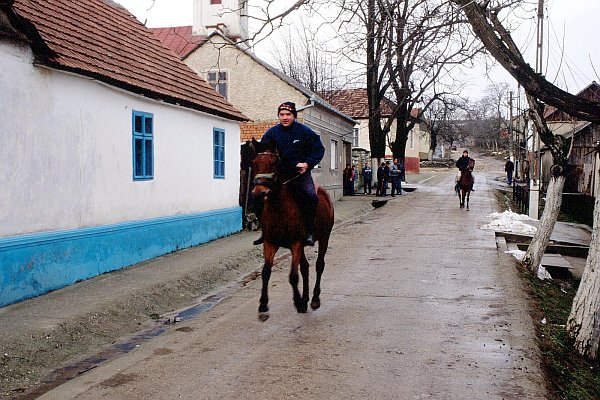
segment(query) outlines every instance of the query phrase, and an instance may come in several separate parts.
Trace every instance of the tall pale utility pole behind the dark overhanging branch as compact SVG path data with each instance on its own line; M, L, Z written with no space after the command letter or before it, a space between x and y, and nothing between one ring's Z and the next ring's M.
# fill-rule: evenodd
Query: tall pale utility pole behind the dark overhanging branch
M542 73L542 55L543 55L543 43L544 43L544 0L538 1L538 14L537 14L537 49L535 54L535 71L538 74ZM539 219L539 208L540 208L540 178L542 177L541 168L542 163L540 160L540 133L533 127L533 143L532 143L532 157L533 163L533 176L529 184L529 216L534 219Z

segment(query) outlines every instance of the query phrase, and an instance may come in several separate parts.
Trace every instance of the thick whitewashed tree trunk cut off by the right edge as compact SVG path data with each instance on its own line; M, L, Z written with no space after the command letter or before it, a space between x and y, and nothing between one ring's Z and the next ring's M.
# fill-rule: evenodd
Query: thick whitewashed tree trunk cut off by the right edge
M589 359L598 357L600 345L600 182L596 182L594 229L590 251L583 270L579 289L573 299L567 320L567 332L575 340L575 350Z

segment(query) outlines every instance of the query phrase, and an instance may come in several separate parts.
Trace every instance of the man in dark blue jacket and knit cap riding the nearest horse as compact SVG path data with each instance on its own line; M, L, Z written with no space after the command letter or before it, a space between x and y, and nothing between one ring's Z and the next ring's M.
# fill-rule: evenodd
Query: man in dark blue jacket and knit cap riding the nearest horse
M308 126L296 121L296 104L286 101L277 108L279 123L265 132L261 143L274 142L279 152L281 179L288 182L298 201L306 226L305 245L314 246L313 229L319 197L310 171L323 159L321 138ZM259 206L262 211L262 205ZM263 236L254 241L261 244Z

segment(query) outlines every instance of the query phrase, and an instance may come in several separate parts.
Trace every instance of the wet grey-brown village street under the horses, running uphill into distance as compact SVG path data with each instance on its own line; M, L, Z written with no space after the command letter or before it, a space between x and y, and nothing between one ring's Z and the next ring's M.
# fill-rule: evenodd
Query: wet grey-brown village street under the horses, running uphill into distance
M498 211L501 164L478 160L471 211L458 207L453 174L429 174L334 231L320 309L296 312L286 257L266 322L257 279L40 398L546 398L519 272L480 229Z

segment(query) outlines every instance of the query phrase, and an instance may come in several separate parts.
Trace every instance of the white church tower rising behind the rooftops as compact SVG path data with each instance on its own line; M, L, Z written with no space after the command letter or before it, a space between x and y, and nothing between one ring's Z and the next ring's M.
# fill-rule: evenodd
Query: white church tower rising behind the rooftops
M193 0L192 34L210 35L215 30L237 42L248 39L248 0Z

